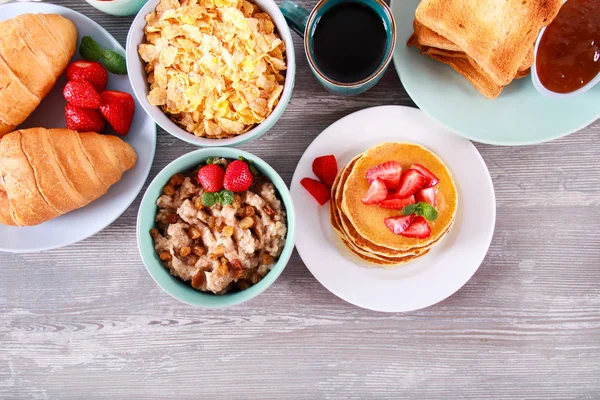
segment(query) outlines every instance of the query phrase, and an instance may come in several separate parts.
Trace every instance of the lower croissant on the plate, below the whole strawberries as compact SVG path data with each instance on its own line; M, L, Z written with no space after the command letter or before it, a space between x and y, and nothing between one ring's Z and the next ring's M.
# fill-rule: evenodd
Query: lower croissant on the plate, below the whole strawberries
M32 128L0 139L0 223L32 226L83 207L133 168L117 136Z

